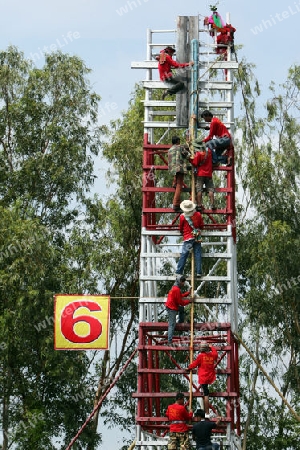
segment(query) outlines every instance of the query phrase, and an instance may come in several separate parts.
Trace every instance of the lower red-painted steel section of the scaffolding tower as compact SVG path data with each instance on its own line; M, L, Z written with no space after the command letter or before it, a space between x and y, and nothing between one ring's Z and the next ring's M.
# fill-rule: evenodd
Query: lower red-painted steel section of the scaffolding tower
M189 324L177 325L178 331L189 331ZM210 336L194 338L194 351L199 350L200 339L207 340L209 344L216 345L219 350L219 359L216 365L218 376L227 378L226 390L223 392L210 393L211 409L215 411L214 399L223 399L225 403L226 416L222 417L223 423L230 423L232 431L240 435L240 407L239 407L239 372L238 372L238 343L231 332L229 323L197 323L194 324L195 332L219 332ZM189 355L190 339L181 337L178 339L178 346L170 348L167 345L166 336L163 334L168 329L165 322L145 322L140 323L139 345L138 345L138 386L137 392L133 394L137 398L136 423L141 425L144 431L161 436L167 432L169 425L165 417L165 403L174 401L176 391L162 392L160 389L160 379L162 374L176 375L186 379L188 385L189 373L186 372L187 363L176 360L176 356L185 352ZM164 368L162 358L168 357L171 368ZM221 356L220 356L221 354ZM219 364L226 364L225 369L220 369ZM188 392L185 393L187 396ZM200 387L193 383L193 398L202 397Z

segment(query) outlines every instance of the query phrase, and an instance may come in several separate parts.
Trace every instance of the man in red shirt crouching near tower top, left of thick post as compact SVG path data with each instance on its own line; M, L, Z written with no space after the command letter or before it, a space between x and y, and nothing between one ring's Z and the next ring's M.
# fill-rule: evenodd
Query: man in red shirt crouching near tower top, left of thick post
M194 65L194 61L190 61L189 63L178 63L172 59L174 53L175 48L166 47L164 50L161 50L160 55L157 56L159 78L161 81L165 81L170 85L163 93L163 100L168 94L176 94L184 88L184 83L179 77L173 75L172 68L182 68Z

